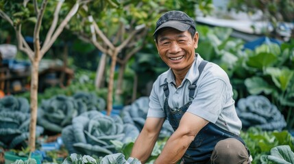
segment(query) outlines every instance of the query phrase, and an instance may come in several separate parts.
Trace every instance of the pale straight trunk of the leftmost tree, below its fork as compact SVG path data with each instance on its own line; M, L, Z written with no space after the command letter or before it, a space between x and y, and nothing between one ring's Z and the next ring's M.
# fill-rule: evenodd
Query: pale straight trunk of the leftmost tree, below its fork
M32 61L31 72L31 121L29 124L29 149L34 152L36 149L36 124L37 124L37 109L38 109L38 68L39 61Z

